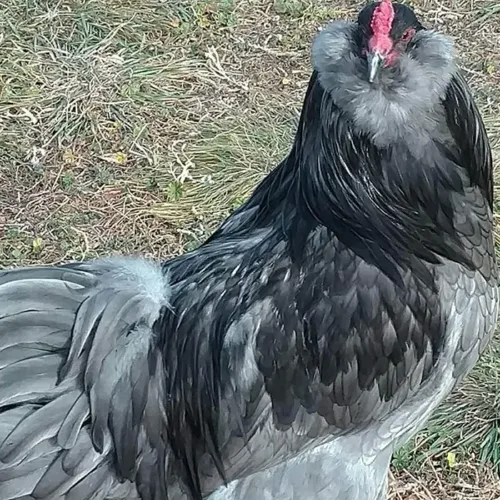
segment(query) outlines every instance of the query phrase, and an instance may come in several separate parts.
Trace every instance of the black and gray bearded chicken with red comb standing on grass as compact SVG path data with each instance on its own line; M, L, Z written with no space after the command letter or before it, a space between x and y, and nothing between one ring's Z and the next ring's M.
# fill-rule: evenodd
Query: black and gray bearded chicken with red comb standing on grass
M498 314L453 46L336 21L289 154L200 248L0 274L2 500L375 500Z

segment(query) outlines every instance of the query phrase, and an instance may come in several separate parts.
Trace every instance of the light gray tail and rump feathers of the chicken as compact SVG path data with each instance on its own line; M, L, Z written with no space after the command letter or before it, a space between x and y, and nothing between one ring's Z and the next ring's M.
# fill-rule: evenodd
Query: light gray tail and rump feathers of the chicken
M159 498L169 293L139 259L0 273L2 500Z

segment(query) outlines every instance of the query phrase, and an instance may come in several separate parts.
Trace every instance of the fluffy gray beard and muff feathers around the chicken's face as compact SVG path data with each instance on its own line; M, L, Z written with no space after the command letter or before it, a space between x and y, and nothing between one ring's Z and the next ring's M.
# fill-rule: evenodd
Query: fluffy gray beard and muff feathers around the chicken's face
M312 60L333 101L380 146L408 137L418 150L441 134L440 103L456 72L450 39L419 29L390 65L369 82L368 36L357 22L338 21L316 37Z

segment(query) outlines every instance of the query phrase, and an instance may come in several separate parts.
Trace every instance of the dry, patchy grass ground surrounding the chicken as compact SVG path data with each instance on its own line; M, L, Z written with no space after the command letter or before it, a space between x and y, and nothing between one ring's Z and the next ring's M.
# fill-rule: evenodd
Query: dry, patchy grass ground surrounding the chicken
M318 27L361 5L0 0L0 267L196 246L289 148ZM498 164L500 3L412 5L456 41ZM498 354L397 453L392 499L500 498Z

